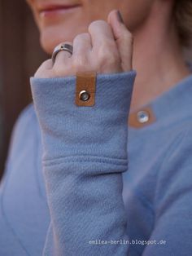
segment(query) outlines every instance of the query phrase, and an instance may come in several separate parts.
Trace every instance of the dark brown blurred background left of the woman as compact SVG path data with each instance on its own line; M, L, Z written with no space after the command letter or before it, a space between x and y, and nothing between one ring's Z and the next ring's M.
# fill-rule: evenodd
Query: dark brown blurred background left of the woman
M24 0L0 0L0 179L12 127L31 99L28 79L47 55Z

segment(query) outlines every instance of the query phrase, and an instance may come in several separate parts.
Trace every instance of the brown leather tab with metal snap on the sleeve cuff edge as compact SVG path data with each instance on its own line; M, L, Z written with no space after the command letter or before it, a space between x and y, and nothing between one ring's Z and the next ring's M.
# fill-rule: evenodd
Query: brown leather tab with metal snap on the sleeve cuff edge
M96 72L76 73L76 105L91 107L95 104Z

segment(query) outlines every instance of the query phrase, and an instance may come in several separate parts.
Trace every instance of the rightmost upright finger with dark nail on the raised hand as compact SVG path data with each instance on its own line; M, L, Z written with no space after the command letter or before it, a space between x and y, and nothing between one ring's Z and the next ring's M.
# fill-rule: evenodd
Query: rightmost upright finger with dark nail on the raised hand
M116 44L120 53L121 66L124 72L132 69L133 58L133 35L126 28L120 11L113 10L107 17L108 23L116 40Z

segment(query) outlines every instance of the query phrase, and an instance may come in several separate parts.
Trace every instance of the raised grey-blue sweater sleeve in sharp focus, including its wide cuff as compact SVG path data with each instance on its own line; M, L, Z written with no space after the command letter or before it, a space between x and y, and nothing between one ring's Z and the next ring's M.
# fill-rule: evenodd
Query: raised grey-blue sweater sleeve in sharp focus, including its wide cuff
M31 78L50 209L44 255L128 255L122 172L135 71L98 74L95 104L75 104L76 77Z

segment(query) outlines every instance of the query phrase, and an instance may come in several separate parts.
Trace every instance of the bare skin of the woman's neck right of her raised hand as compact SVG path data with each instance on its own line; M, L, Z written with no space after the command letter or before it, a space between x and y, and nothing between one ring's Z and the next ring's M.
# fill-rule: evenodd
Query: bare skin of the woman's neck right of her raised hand
M162 19L164 16L171 15L162 15L162 10L154 7L142 27L133 33L133 69L137 77L131 111L149 104L190 74L174 22L170 18Z

